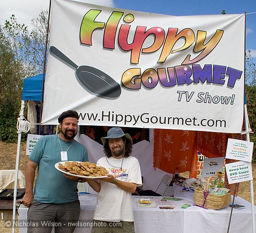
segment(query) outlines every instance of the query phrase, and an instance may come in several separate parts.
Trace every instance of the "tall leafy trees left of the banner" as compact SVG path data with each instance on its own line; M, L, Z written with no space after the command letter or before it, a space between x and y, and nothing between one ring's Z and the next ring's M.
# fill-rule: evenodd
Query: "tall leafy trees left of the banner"
M7 142L17 141L23 79L44 70L47 11L41 11L32 24L29 32L12 15L0 25L0 140Z

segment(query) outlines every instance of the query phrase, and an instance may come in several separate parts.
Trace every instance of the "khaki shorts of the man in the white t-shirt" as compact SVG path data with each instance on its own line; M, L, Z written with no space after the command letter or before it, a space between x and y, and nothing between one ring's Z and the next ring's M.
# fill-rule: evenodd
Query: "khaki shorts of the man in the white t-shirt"
M135 233L134 222L105 222L93 220L93 224L92 233Z

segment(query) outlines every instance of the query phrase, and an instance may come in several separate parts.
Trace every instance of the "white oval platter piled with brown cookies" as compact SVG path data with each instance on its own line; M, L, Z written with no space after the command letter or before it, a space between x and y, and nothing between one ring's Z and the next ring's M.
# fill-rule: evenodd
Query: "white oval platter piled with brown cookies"
M106 174L110 173L106 168L96 166L90 162L77 162L77 161L62 161L56 163L55 168L69 176L79 178L105 178Z

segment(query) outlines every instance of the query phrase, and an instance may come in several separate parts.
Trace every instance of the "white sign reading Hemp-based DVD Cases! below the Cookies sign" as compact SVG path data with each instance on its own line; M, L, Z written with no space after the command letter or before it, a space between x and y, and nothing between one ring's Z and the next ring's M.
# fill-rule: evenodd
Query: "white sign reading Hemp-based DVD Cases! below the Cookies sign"
M249 162L239 161L226 164L225 167L229 184L252 180L252 169Z

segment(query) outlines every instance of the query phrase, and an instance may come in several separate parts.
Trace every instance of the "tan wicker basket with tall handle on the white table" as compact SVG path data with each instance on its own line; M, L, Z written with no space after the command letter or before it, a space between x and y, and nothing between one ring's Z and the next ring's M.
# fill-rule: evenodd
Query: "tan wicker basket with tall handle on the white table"
M217 175L210 176L207 179L207 184L204 188L196 188L194 192L194 202L197 206L203 207L205 209L218 210L225 208L230 205L231 202L231 192L229 191L224 195L215 195L208 192L209 183L213 177Z

